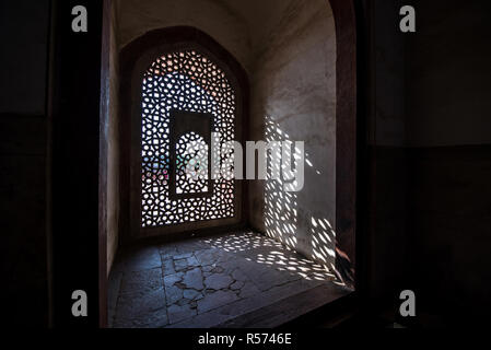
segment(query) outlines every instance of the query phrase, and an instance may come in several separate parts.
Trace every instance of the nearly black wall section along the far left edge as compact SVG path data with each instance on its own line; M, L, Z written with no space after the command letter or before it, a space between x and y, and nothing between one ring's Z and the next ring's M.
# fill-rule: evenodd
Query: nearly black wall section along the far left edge
M48 324L46 231L49 1L0 4L0 266L2 317Z

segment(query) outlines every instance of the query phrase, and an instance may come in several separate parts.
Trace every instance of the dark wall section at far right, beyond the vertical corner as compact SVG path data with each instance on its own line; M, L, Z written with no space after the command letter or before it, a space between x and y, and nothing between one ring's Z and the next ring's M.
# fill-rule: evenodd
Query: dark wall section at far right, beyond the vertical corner
M413 1L408 38L408 215L420 305L487 319L491 268L489 1ZM469 325L471 317L466 317Z

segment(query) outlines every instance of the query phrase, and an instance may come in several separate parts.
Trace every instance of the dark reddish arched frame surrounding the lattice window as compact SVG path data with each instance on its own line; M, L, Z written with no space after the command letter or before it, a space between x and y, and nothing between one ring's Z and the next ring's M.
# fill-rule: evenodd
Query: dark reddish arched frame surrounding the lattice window
M206 232L214 228L239 228L245 223L246 184L236 182L235 210L232 219L176 224L165 228L140 228L140 144L141 144L141 77L155 58L162 55L196 49L222 69L236 94L235 130L245 141L248 119L248 79L236 59L206 33L189 26L175 26L148 32L128 44L120 52L120 236L124 243L141 238L186 236L186 232Z

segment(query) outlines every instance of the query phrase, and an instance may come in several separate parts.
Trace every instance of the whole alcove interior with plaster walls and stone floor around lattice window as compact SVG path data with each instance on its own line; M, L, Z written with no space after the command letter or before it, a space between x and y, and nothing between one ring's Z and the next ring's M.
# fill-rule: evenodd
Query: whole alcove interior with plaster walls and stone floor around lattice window
M338 244L338 229L350 230L337 223L343 182L337 182L339 43L330 3L119 0L110 7L108 325L274 327L352 293L354 248L343 252ZM300 191L284 191L278 180L244 180L233 220L140 230L139 206L129 205L141 202L141 191L131 187L140 173L135 151L128 152L141 148L135 136L141 115L135 121L129 113L140 102L138 92L127 92L143 77L135 73L138 62L128 69L126 57L168 28L202 33L239 67L246 82L236 86L246 96L236 126L242 141L304 141ZM202 40L197 44L200 51ZM164 56L157 45L150 51L152 60Z

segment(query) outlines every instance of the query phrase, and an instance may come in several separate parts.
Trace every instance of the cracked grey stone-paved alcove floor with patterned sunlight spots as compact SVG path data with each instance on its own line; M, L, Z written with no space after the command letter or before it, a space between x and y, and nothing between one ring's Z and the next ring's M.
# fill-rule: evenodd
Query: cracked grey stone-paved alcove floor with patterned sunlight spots
M323 284L342 293L334 280L250 232L139 247L119 254L109 276L109 326L220 327Z

